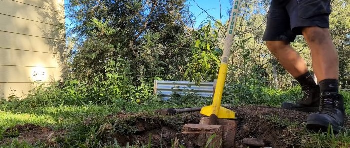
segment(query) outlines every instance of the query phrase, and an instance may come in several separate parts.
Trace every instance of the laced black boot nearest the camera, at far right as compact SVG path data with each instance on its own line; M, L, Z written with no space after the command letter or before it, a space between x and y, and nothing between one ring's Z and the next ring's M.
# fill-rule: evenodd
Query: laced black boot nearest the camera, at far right
M315 132L327 132L330 124L334 133L338 133L344 125L344 97L339 93L324 92L320 99L319 110L308 116L306 127Z

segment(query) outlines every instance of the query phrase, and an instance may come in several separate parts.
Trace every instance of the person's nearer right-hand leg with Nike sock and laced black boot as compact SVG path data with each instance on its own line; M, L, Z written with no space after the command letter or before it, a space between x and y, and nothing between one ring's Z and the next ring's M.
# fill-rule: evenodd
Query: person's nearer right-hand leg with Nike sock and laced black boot
M311 49L313 69L321 91L320 109L310 114L307 128L327 131L330 123L338 131L344 123L345 108L343 96L338 93L339 59L329 29L307 27L302 33Z

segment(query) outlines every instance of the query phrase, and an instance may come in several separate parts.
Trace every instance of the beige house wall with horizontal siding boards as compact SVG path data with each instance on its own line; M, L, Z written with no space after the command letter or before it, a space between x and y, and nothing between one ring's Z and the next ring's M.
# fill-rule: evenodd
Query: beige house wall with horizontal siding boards
M0 97L60 79L64 0L0 0Z

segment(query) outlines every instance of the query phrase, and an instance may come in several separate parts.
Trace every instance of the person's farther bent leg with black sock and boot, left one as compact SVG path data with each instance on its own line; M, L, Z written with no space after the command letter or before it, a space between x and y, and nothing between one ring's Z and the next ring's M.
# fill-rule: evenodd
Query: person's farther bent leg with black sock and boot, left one
M281 107L288 110L314 112L319 108L319 87L308 71L304 59L286 41L266 41L267 48L281 65L299 82L303 98L296 103L283 102Z

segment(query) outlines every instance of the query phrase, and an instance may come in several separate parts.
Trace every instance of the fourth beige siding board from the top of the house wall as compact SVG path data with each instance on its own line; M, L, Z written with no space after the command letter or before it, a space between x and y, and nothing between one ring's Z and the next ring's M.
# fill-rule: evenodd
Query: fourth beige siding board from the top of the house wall
M0 48L29 50L35 52L62 53L64 41L48 38L39 38L22 34L14 34L0 31ZM57 50L60 49L58 52ZM1 55L0 55L1 57ZM1 59L0 59L1 60Z

